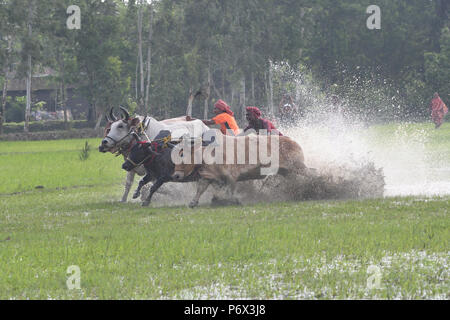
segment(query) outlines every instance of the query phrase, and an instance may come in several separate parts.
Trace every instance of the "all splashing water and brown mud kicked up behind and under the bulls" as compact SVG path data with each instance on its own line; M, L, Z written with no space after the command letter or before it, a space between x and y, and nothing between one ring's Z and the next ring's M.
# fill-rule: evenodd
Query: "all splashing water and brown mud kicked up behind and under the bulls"
M271 120L299 143L306 165L318 174L309 179L274 176L240 182L236 194L242 203L450 194L450 165L445 154L427 147L430 131L408 123L369 126L401 119L408 110L399 95L390 95L395 92L392 83L355 78L333 103L334 87L324 92L307 71L293 70L286 63L274 64L273 71L274 96L290 93L302 112L290 123ZM370 108L361 103L364 100ZM167 189L171 192L156 194L154 203L186 204L195 186L170 183ZM216 193L208 190L201 203L209 204Z

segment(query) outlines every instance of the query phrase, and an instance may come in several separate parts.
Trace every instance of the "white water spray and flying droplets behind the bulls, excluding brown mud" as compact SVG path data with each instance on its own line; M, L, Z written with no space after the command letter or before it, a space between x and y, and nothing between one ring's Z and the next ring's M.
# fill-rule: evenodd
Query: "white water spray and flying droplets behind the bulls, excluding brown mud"
M288 93L302 111L301 117L277 125L301 145L306 164L318 169L322 180L332 180L337 189L339 181L343 189L359 184L358 197L374 191L376 196L450 194L450 166L445 154L428 147L428 129L412 123L369 126L408 116L409 108L391 82L376 76L355 78L346 87L330 86L326 92L307 70L284 63L274 74L285 79L277 83L279 92L295 88ZM336 91L341 95L333 101ZM341 191L343 196L355 195Z

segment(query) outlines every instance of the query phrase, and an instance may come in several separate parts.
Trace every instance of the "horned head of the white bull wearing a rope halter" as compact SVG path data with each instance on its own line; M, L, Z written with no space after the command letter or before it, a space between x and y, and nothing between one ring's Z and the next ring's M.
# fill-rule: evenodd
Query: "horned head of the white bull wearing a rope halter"
M122 117L118 119L114 115L113 108L106 116L108 124L105 128L105 136L98 147L100 152L115 152L120 147L130 144L132 141L131 129L139 123L138 118L131 119L127 109L120 107Z

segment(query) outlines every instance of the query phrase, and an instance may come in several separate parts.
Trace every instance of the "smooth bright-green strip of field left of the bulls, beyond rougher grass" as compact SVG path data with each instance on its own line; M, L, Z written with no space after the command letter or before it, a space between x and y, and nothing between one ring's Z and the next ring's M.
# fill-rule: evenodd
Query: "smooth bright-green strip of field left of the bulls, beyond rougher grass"
M89 158L80 161L85 141ZM44 188L110 185L123 180L122 157L97 151L100 139L0 142L0 194Z

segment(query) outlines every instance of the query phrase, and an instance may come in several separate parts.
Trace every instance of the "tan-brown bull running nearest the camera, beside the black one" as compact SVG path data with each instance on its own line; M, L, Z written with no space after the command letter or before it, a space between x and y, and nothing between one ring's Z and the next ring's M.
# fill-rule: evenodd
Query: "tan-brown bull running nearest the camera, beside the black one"
M189 161L175 165L173 180L181 181L190 177L198 181L197 193L189 204L190 207L198 204L201 195L211 183L227 184L230 187L229 191L233 193L237 181L263 179L271 174L287 177L308 176L312 173L304 164L302 148L289 137L263 135L238 137L217 135L217 137L221 137L222 141L188 150L189 160L194 160L195 156L198 159L199 155L202 155L201 162L197 161L195 164ZM177 153L176 149L174 152ZM182 151L178 150L178 154L182 154ZM174 160L173 156L172 159Z

